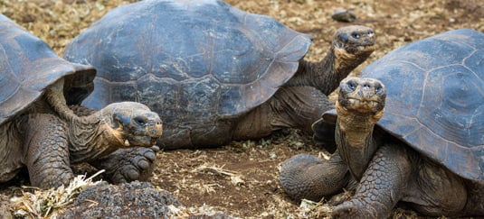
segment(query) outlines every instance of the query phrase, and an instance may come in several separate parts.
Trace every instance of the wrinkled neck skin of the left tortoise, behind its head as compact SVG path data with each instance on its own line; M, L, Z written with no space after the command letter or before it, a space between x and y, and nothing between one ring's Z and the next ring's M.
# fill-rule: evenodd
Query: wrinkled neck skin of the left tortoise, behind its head
M45 96L52 109L67 123L71 162L96 160L122 147L122 138L110 128L112 118L106 116L106 112L78 116L66 105L62 79L49 87Z

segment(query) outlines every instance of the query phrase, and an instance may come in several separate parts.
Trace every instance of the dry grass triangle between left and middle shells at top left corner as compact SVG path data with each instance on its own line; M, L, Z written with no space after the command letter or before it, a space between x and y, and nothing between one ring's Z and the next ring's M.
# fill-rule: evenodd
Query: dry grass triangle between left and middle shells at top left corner
M106 14L110 8L134 0L0 0L0 12L47 41L62 55L62 50L81 31Z

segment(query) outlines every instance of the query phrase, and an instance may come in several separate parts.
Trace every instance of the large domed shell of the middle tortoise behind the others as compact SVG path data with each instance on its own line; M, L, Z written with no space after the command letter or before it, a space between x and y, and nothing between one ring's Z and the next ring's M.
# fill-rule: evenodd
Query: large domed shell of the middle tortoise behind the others
M83 105L138 101L162 117L162 138L230 138L231 125L219 121L267 101L310 43L308 35L222 1L141 1L111 10L71 41L64 58L98 70Z

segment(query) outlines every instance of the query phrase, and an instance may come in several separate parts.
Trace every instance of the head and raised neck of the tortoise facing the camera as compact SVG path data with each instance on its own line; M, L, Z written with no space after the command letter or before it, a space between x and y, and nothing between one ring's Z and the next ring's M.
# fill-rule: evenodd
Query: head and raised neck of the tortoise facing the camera
M384 115L384 84L373 78L346 78L339 85L336 104L337 149L358 180L378 148L375 123Z

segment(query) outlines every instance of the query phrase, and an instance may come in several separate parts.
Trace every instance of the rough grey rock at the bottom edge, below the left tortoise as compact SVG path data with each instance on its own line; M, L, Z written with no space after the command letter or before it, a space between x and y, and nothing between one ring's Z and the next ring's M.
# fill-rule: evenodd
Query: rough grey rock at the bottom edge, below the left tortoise
M86 187L57 218L166 218L168 205L181 205L176 197L147 182Z

